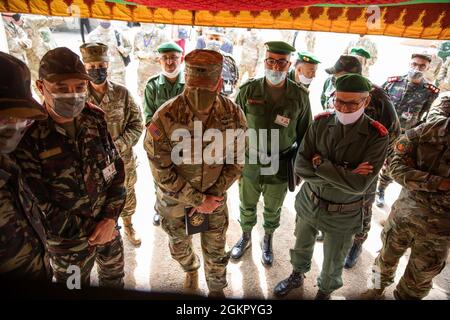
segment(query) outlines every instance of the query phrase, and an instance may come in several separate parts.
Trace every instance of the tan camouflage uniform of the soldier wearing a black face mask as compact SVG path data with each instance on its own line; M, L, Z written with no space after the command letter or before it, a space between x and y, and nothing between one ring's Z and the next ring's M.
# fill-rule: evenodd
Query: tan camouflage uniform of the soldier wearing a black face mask
M107 90L101 99L93 91L94 89L89 85L88 101L105 112L109 134L124 162L127 200L120 216L130 217L136 211L134 185L137 182L137 175L133 146L142 134L142 115L130 92L120 84L107 81Z

